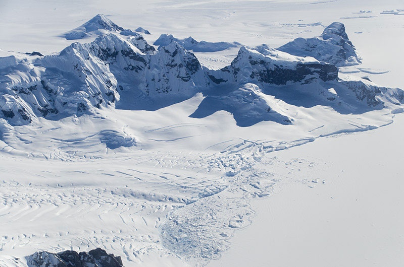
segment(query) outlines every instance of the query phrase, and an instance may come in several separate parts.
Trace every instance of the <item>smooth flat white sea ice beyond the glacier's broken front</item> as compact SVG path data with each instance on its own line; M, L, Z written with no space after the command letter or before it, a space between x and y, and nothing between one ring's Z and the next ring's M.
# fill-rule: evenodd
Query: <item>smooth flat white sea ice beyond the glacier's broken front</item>
M252 224L208 266L401 266L403 168L392 151L404 148L403 127L399 116L386 127L276 152L285 162L319 163L306 172L288 166L291 176L318 182L288 184L252 202Z

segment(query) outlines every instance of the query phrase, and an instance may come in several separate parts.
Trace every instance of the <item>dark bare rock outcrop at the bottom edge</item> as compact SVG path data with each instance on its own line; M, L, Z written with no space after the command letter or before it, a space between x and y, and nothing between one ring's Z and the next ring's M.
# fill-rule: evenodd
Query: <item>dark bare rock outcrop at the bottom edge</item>
M66 250L60 253L35 252L27 256L28 267L123 267L121 257L108 254L101 248L77 253Z

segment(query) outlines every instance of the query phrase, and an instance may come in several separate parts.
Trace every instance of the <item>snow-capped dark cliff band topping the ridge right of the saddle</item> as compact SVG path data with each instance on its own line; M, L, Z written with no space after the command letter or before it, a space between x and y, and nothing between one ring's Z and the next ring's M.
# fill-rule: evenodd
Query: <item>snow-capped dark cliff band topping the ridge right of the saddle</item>
M335 65L319 62L312 57L292 56L262 45L255 49L241 47L230 66L210 71L209 77L215 84L308 84L319 80L335 81L338 69Z

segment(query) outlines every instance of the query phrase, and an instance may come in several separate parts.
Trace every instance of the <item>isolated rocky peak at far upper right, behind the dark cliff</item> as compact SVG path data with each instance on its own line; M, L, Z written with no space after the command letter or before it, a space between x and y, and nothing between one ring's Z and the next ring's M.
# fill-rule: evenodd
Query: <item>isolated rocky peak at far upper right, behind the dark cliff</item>
M297 38L278 48L297 56L312 56L336 66L357 65L361 58L349 41L342 23L334 22L324 29L320 36Z

